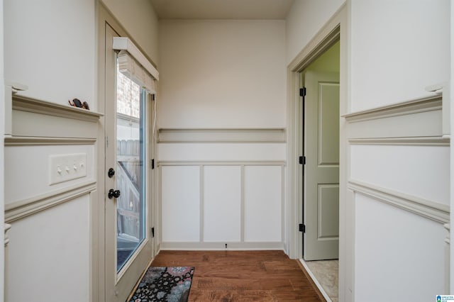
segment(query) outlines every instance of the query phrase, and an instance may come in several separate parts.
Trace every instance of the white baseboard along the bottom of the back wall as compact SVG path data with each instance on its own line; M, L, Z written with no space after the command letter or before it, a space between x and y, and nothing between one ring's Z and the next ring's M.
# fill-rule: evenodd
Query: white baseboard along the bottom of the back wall
M227 244L227 248L226 248ZM160 250L284 250L283 242L161 242Z

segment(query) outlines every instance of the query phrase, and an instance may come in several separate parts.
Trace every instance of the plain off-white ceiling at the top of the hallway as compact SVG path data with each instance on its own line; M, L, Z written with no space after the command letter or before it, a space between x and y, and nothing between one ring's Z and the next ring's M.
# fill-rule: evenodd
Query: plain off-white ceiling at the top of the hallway
M294 0L150 0L160 19L284 19Z

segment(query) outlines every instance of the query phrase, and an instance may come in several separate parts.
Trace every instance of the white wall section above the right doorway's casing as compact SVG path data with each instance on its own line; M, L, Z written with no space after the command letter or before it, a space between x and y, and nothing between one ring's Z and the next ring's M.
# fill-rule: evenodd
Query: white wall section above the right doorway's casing
M295 0L286 20L287 64L309 43L345 0Z

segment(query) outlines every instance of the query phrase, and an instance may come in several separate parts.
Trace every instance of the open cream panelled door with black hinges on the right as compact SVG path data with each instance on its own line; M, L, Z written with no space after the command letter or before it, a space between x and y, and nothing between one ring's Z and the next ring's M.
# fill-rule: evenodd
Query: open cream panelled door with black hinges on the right
M339 75L307 70L304 98L305 260L337 259L339 246Z

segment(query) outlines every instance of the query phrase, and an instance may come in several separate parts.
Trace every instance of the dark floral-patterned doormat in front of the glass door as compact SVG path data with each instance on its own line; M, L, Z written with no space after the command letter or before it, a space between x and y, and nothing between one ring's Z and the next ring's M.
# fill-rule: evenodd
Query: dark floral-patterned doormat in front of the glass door
M148 267L129 302L186 302L194 267Z

